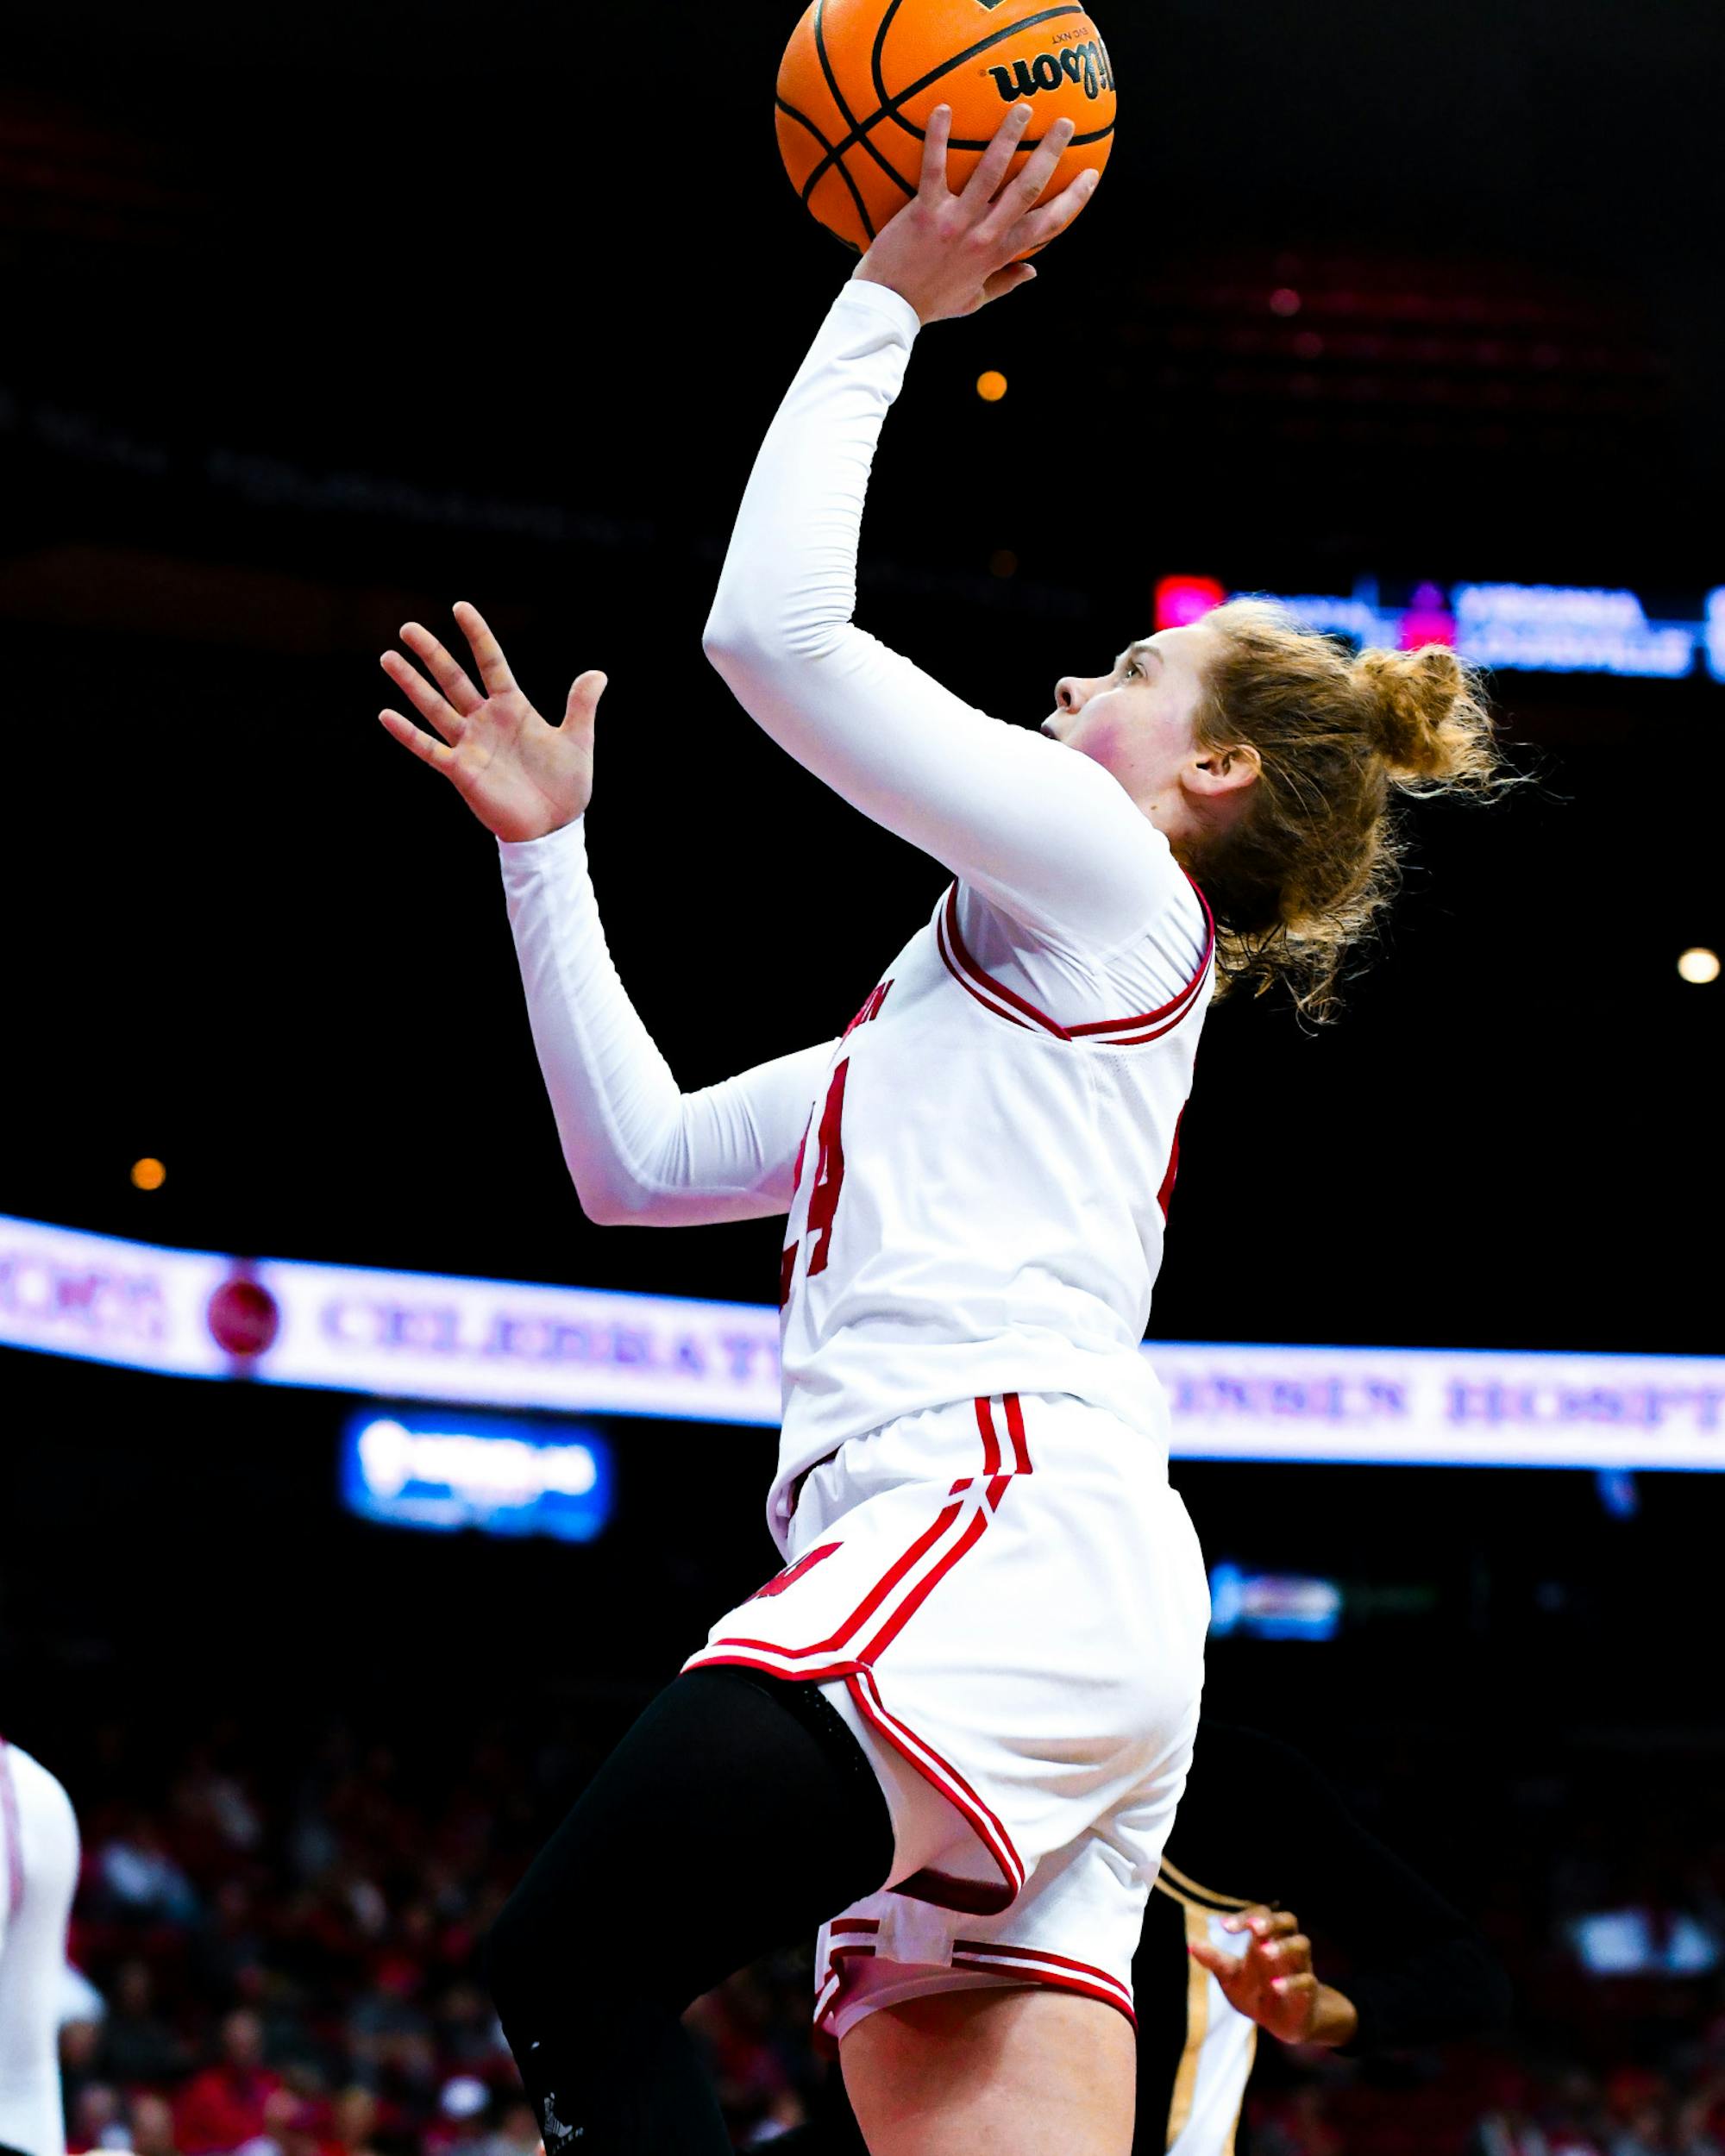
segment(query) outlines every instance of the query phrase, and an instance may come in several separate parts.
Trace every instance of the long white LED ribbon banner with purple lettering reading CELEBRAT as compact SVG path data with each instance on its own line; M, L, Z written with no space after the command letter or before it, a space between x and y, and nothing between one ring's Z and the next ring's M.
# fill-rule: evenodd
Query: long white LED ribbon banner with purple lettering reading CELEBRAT
M778 1421L778 1313L162 1250L0 1216L0 1345L181 1378ZM1725 1468L1725 1356L1151 1341L1184 1460Z

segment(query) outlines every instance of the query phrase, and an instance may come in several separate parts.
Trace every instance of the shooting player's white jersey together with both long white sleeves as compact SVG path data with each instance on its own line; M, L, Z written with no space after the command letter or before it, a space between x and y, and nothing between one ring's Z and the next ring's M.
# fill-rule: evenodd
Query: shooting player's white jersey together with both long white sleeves
M584 819L500 847L589 1216L789 1216L781 1548L811 1462L923 1408L1065 1393L1164 1434L1138 1343L1214 931L1108 770L854 625L914 334L897 293L843 289L757 457L705 638L763 731L953 877L858 1022L681 1093L610 964Z

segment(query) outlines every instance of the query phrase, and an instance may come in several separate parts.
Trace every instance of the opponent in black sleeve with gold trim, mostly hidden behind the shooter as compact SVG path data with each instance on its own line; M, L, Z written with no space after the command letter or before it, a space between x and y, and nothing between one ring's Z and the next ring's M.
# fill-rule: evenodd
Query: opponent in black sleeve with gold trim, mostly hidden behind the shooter
M1251 1893L1225 1891L1238 1887ZM1346 1953L1346 1988L1317 1977L1305 1919ZM1496 2029L1509 1984L1473 1925L1305 1753L1205 1714L1132 1958L1132 2003L1134 2156L1244 2156L1259 2029L1350 2057L1449 2044ZM830 2081L815 2119L774 2147L860 2156L843 2087Z

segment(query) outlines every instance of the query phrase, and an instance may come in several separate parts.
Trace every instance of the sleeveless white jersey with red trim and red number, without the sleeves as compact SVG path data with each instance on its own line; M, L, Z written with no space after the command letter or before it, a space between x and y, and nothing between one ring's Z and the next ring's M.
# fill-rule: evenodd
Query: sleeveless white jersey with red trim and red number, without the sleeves
M985 1393L1070 1393L1167 1445L1138 1343L1210 951L1154 1011L1076 1024L985 970L953 886L832 1050L781 1272L772 1501L845 1438Z

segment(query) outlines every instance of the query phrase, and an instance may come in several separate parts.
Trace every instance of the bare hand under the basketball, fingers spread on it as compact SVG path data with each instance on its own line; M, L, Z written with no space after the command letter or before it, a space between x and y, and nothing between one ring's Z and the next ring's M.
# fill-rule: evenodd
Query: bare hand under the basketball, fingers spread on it
M1052 201L1041 201L1041 190L1072 140L1070 119L1054 121L1024 160L1024 170L1007 179L1029 125L1031 108L1013 106L977 160L964 192L953 194L947 185L953 112L951 106L936 106L923 140L923 185L916 201L906 203L882 229L854 276L888 285L910 300L925 323L975 315L990 300L1029 285L1035 270L1018 257L1046 248L1095 190L1095 172L1080 172Z

